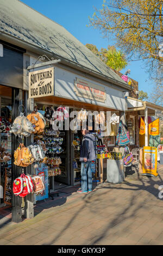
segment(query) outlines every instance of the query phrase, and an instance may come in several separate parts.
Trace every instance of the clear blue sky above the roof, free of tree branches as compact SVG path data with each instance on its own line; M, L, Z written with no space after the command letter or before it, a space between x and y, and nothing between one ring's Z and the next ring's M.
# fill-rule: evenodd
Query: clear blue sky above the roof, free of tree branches
M96 45L100 50L102 47L114 45L114 41L103 38L103 35L89 25L89 16L92 16L96 7L102 7L103 0L22 0L43 15L65 27L80 42ZM139 82L139 90L149 94L154 84L149 81L142 61L130 62L125 70L130 69L130 77Z

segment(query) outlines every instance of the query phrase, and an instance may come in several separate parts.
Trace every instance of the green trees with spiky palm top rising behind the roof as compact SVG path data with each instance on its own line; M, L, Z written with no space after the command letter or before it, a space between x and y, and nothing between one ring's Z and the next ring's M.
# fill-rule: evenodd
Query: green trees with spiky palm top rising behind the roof
M121 51L117 51L115 46L108 46L108 49L101 48L100 51L98 51L96 45L86 44L86 47L112 69L121 71L127 66L126 57Z

